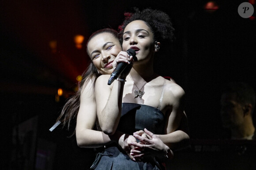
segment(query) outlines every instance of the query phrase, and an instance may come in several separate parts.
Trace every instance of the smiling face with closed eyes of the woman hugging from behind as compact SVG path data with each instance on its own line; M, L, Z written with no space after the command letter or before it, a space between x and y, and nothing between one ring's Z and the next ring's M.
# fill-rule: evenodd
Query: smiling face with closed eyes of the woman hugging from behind
M122 51L122 47L111 33L99 33L88 42L87 51L100 74L111 74L112 62Z

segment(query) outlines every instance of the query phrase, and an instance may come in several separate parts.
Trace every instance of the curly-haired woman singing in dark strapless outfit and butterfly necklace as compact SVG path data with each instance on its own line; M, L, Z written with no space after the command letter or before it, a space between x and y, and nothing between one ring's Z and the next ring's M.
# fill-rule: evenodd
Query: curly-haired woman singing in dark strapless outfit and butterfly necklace
M133 134L137 142L130 150L133 160L115 145L105 148L96 169L164 169L162 162L172 158L177 144L189 139L184 114L184 90L154 72L154 57L160 43L173 40L169 16L158 10L136 10L120 26L124 51L133 49L136 57L122 55L113 61L132 64L110 86L109 75L99 76L95 98L100 127L105 134L121 131ZM185 128L181 128L185 127ZM135 132L135 133L134 133Z

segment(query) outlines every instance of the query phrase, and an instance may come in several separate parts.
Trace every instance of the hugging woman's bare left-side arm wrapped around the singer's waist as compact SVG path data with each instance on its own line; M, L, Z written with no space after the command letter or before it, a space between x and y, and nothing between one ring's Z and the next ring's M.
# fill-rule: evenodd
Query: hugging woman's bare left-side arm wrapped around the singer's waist
M97 148L115 142L130 156L131 142L136 142L132 135L116 131L109 136L101 131L92 130L96 120L96 104L93 93L93 83L90 82L82 90L80 97L80 108L76 123L77 145L82 148ZM133 157L130 156L132 159Z

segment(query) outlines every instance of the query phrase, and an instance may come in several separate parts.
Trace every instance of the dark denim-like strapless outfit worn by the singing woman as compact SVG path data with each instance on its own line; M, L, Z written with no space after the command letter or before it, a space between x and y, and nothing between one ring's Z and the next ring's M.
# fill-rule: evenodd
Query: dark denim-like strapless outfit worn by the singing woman
M136 103L123 103L122 113L117 130L126 134L133 134L138 130L151 131L154 134L163 134L165 127L164 114L157 108ZM117 145L105 146L104 152L98 153L96 170L161 170L163 169L153 157L135 162Z

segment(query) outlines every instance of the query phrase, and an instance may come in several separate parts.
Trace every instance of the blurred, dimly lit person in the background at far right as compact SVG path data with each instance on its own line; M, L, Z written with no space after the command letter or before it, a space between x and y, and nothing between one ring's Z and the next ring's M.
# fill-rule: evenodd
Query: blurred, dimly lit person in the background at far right
M231 82L222 89L222 126L230 130L228 138L252 140L256 138L253 124L255 91L244 82Z

